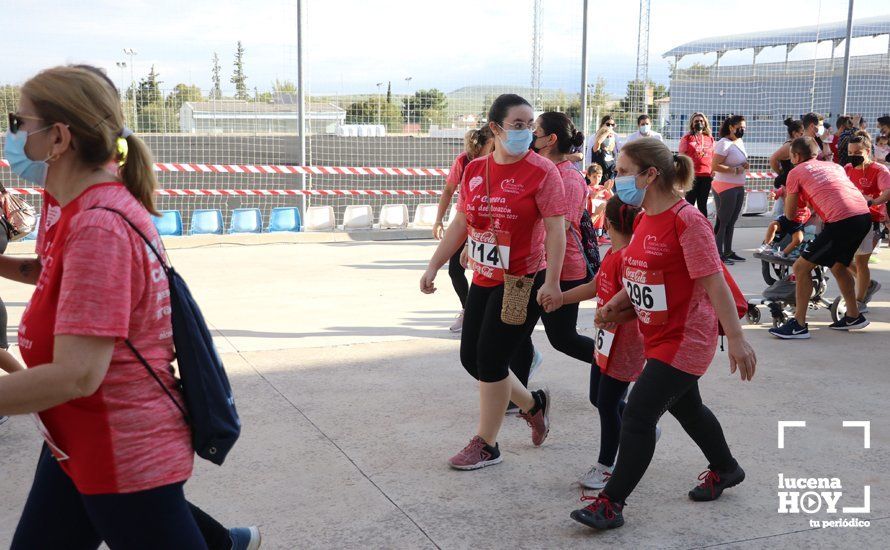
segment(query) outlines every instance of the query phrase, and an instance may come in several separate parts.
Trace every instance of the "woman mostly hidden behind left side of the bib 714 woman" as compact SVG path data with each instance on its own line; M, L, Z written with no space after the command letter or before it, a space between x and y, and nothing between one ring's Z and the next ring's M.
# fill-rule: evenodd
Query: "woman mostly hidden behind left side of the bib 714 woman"
M494 140L492 140L491 130L488 126L470 130L464 137L464 152L459 154L451 164L448 170L448 177L445 178L445 189L442 190L442 196L439 198L439 209L436 212L436 223L433 224L433 238L437 241L442 240L445 235L445 226L443 220L448 207L451 205L451 198L460 185L460 178L464 173L464 168L476 157L481 157L491 153L494 148ZM464 266L460 261L461 250L454 253L448 260L448 276L451 277L451 285L454 292L460 300L460 313L457 315L454 323L449 330L451 332L460 332L464 323L464 304L467 301L467 293L470 291L470 285L467 283L467 277L464 275Z

